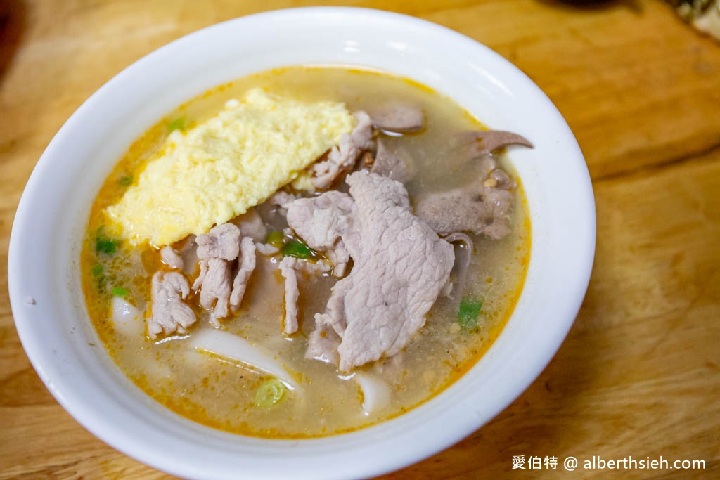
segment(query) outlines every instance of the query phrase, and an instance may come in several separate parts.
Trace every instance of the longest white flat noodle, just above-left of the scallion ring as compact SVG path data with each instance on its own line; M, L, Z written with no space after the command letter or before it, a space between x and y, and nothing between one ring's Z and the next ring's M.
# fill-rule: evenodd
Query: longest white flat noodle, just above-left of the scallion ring
M289 389L297 389L297 382L279 361L238 335L214 328L201 328L190 335L187 341L192 348L245 363L255 370L275 376Z

